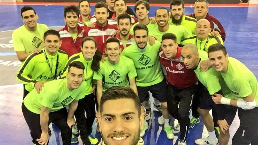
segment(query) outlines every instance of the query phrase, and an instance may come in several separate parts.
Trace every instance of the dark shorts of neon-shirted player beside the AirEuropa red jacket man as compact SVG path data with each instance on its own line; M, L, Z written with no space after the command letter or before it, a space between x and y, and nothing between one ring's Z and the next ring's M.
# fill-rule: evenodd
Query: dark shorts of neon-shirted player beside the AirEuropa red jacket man
M137 90L141 103L150 99L149 91L152 93L154 98L159 100L159 102L167 102L167 86L165 80L152 86L137 86Z

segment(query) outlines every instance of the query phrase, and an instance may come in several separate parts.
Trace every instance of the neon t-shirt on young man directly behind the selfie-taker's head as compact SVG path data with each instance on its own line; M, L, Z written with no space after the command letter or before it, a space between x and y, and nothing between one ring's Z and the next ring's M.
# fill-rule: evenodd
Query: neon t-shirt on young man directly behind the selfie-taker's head
M133 61L127 57L120 56L117 64L108 62L108 57L105 57L105 62L99 62L99 72L94 72L93 79L104 80L103 91L106 91L112 86L129 87L129 79L137 76Z

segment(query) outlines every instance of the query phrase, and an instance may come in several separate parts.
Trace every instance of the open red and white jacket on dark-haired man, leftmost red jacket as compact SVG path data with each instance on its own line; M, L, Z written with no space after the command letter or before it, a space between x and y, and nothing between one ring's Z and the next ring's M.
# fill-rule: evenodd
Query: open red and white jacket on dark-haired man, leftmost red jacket
M77 28L78 35L75 41L73 40L72 35L68 31L67 25L65 25L64 28L58 30L58 32L62 40L62 45L60 47L60 50L65 51L68 57L82 51L81 43L82 43L84 29L81 26L78 25L78 28Z

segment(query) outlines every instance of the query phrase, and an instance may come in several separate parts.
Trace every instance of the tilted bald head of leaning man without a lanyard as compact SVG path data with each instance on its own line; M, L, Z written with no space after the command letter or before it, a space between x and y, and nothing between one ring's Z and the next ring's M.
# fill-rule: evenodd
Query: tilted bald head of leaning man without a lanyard
M186 44L181 50L181 57L187 69L194 69L200 60L197 47L194 44Z

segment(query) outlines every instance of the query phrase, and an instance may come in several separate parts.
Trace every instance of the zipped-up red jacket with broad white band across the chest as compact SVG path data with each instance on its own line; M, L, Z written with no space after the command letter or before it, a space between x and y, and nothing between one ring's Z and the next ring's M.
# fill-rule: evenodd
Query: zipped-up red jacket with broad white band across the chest
M106 40L108 39L108 37L113 37L114 34L116 34L116 30L117 30L117 26L116 25L109 25L107 22L107 25L102 27L99 26L96 23L94 28L87 28L84 31L83 37L86 36L91 36L94 37L96 42L97 42L97 46L99 48L99 50L104 53L105 52L105 46L106 46Z

